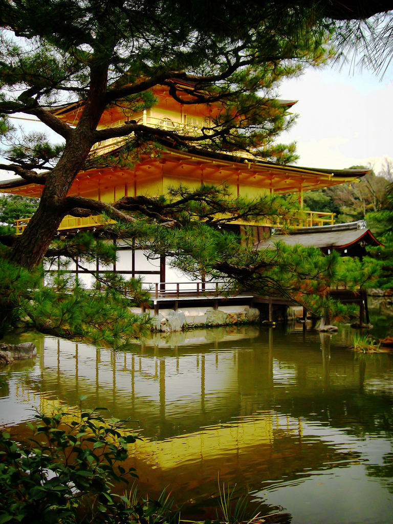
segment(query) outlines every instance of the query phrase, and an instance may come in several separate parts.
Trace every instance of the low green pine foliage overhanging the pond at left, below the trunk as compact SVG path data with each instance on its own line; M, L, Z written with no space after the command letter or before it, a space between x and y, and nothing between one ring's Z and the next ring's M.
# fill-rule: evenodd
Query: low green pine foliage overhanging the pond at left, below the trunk
M67 271L47 275L46 285L42 270L29 272L4 258L0 271L0 337L17 327L119 348L150 329L148 315L130 312L133 305L150 305L139 280L108 275L86 290Z

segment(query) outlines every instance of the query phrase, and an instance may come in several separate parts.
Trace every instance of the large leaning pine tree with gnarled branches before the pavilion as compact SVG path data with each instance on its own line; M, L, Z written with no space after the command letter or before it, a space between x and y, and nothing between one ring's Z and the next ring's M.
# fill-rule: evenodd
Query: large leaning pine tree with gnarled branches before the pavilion
M334 18L330 4L201 0L184 9L174 0L2 0L0 132L14 143L6 151L7 163L0 168L42 185L38 209L23 235L12 241L7 237L10 247L3 248L7 264L13 264L16 271L35 271L46 255L72 258L80 245L78 239L73 246L51 246L63 217L105 212L122 221L123 228L134 228L140 242L154 233L150 246L155 253L163 249L177 256L180 253L179 265L191 272L226 274L261 290L287 292L284 275L293 267L288 257L278 264L269 254L266 260L238 247L233 248L232 258L211 257L239 245L229 234L216 234L219 213L242 213L249 219L266 216L282 203L233 201L225 189L206 201L205 188L185 196L180 189L168 201L128 199L112 205L67 193L81 169L100 161L91 154L94 144L110 138L124 137L128 154L135 156L146 144L169 139L187 150L201 144L215 151L252 151L259 158L293 160L294 146L274 141L292 123L285 107L275 100L275 90L282 78L299 74L305 64L321 64L330 56L326 42L335 27L326 18L326 14ZM337 14L337 18L341 16ZM211 128L204 128L199 136L133 122L97 129L103 112L112 105L131 112L150 107L154 104L150 88L157 84L167 86L173 99L185 105L216 104L220 110ZM75 127L52 111L70 103L80 105ZM7 121L7 116L16 113L38 118L63 139L62 143L51 145L38 134L25 133L20 138ZM183 211L187 204L183 213L179 213L179 202ZM133 216L136 211L137 218ZM201 224L201 217L208 224ZM195 260L187 248L188 238L202 227L211 254L205 251ZM89 257L87 249L83 254ZM315 271L310 270L312 280ZM299 275L304 279L307 271ZM290 280L290 286L293 282ZM119 289L118 282L104 285ZM67 302L67 285L59 281L56 286L64 290L63 302ZM11 288L5 304L18 308L19 294ZM42 293L45 290L41 289ZM135 295L137 301L144 300L140 288L135 289ZM24 294L24 300L31 298ZM71 336L77 326L71 329L64 322L67 307L58 314L61 322L57 328L54 322L50 329L65 326ZM30 314L34 316L34 312ZM8 319L7 314L4 318Z

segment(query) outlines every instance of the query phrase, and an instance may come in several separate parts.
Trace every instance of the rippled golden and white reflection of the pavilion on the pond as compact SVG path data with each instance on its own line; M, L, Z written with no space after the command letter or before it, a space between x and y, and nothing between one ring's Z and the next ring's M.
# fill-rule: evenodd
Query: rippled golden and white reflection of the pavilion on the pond
M178 503L210 498L219 473L226 485L239 482L252 490L262 479L299 478L326 464L350 464L354 453L307 438L307 418L255 403L256 387L304 385L308 379L297 352L280 344L273 351L272 330L266 334L258 339L257 352L250 351L249 334L242 337L242 329L233 328L217 330L214 343L198 343L194 351L192 333L184 340L153 337L152 345L123 353L47 337L34 373L13 395L19 403L39 402L40 411L58 403L71 413L86 396L83 407L105 406L112 416L130 419L130 428L143 438L130 446L127 461L137 470L141 492L156 497L168 487ZM198 332L198 341L202 336ZM323 337L322 354L309 355L310 380L315 375L329 381L329 341ZM21 380L20 374L15 377ZM333 372L330 386L343 380L335 377ZM345 386L358 380L356 369L348 366ZM278 404L286 398L285 389L276 388Z

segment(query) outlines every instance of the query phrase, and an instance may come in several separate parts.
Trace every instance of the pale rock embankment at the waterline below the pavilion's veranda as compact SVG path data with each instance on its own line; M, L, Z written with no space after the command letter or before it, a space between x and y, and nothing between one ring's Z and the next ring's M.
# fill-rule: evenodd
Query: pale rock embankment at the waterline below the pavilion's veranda
M160 313L155 316L154 329L156 331L181 331L190 326L219 326L239 322L256 322L257 320L259 320L259 311L249 307L230 313L208 308L204 313L195 315L186 315L181 310L171 310L166 315Z

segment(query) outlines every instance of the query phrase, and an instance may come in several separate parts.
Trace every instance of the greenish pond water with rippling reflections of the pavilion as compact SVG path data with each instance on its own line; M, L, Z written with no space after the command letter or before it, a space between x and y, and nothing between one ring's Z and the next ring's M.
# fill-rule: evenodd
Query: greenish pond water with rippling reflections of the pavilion
M143 439L140 491L171 490L187 515L215 517L219 476L276 521L390 523L393 354L354 352L353 333L212 328L118 353L37 338L34 361L0 369L0 425L86 396Z

